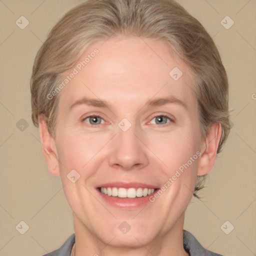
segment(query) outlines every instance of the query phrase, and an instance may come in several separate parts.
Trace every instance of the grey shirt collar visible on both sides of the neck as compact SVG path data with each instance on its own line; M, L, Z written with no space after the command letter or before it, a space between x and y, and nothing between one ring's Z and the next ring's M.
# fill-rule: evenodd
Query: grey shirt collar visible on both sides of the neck
M70 256L74 241L75 235L73 233L66 239L60 248L44 254L43 256ZM204 249L196 238L187 230L183 230L183 246L190 256L223 256Z

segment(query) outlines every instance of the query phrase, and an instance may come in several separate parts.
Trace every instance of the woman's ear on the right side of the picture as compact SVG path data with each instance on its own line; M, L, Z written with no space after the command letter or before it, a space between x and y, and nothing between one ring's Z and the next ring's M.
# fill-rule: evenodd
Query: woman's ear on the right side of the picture
M201 156L198 160L198 176L202 176L208 173L213 167L220 137L221 124L218 122L214 122L209 127L208 133L202 141Z

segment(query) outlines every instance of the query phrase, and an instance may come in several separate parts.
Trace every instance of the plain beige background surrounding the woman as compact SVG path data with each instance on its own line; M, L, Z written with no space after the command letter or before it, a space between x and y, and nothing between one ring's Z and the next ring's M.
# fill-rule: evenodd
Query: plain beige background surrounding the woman
M0 255L44 254L73 232L60 178L48 173L30 119L29 78L51 26L80 2L0 0ZM220 51L234 125L201 193L203 200L193 198L188 206L184 228L210 250L256 255L256 0L178 2L204 25ZM21 15L29 21L24 29L15 24ZM229 29L220 23L226 15L234 21ZM16 126L21 118L28 123L23 131ZM29 226L24 234L15 229L21 220ZM234 226L229 234L220 228L226 220Z

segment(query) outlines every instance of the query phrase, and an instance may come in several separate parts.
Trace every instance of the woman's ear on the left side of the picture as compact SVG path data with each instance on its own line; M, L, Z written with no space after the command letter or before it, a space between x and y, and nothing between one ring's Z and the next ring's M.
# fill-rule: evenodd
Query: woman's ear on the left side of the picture
M39 116L39 133L42 143L42 151L48 165L48 170L52 175L59 175L55 139L48 132L46 120L43 115Z

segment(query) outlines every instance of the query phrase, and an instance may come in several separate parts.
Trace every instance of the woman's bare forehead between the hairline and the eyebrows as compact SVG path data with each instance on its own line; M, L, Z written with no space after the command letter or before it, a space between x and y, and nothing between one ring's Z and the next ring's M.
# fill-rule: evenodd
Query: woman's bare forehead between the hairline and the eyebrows
M196 104L189 67L160 40L131 36L94 42L65 75L73 70L60 104L84 96L127 107L162 96Z

